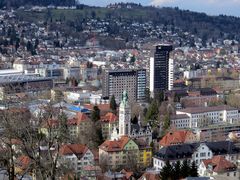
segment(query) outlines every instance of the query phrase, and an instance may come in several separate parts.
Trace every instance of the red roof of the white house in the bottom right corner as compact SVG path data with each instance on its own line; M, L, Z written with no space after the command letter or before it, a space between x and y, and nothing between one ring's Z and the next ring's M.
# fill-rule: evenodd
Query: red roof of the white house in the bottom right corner
M236 166L223 156L213 156L212 159L203 160L206 167L212 165L214 172L225 172L229 170L236 170Z

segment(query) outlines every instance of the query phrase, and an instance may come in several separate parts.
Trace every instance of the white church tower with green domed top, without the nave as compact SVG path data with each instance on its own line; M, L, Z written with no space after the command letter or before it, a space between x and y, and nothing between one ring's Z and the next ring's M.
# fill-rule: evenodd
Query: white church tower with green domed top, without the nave
M128 94L126 91L122 94L122 100L119 107L119 136L130 135L131 133L131 109L128 103Z

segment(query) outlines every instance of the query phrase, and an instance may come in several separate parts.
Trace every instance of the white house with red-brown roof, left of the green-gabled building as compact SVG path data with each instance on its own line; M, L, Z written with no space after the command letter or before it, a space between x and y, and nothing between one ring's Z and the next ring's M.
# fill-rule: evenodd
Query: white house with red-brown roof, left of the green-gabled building
M83 144L64 144L60 147L60 164L80 172L85 166L95 164L92 151Z

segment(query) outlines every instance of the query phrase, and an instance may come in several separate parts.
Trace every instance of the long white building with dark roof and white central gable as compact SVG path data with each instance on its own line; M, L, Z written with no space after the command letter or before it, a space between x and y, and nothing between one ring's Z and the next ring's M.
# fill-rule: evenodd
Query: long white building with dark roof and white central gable
M236 163L240 149L230 141L202 142L191 144L180 144L161 148L153 157L153 167L160 171L165 163L171 164L177 161L195 161L199 166L205 159L211 159L215 155L223 155L231 162Z

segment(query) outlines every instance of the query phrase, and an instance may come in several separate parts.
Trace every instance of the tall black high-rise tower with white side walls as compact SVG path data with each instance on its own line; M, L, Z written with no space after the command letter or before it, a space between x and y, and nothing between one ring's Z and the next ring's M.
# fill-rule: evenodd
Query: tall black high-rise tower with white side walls
M154 57L150 59L150 92L171 90L173 88L173 60L169 54L171 45L157 45Z

